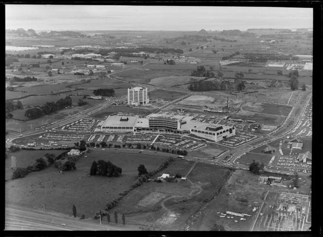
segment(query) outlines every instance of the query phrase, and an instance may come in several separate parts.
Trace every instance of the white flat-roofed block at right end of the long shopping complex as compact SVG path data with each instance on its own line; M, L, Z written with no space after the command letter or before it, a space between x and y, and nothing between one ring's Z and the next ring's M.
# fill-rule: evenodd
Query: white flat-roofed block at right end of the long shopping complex
M212 141L221 141L235 135L235 127L218 124L204 124L197 128L191 128L191 134Z

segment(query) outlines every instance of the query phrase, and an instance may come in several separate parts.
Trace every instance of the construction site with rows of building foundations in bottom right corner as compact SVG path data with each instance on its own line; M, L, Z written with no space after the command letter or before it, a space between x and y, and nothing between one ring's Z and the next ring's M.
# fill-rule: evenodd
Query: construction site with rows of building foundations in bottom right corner
M269 192L254 231L308 231L311 226L310 196Z

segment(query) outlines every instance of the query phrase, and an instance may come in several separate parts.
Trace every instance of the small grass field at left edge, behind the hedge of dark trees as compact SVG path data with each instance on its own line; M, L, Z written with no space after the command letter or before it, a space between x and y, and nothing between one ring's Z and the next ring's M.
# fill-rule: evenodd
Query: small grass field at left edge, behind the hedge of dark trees
M5 160L5 179L11 179L11 176L14 172L14 169L10 169L11 163L11 156L15 156L16 159L16 167L20 168L27 168L34 164L35 160L41 157L44 157L46 153L53 153L56 156L64 151L24 151L20 150L19 152L12 152L8 154L8 157Z

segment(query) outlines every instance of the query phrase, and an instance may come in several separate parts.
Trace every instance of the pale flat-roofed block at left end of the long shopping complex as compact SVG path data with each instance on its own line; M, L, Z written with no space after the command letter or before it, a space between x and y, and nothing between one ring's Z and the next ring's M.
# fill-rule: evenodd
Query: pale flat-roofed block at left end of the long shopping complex
M138 116L109 116L101 126L101 132L134 132Z

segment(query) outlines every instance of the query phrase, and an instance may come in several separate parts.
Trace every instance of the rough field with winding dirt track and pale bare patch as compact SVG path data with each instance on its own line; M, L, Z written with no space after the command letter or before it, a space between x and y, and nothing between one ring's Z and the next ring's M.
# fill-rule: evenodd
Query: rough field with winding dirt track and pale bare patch
M176 160L172 163L156 176L162 173L181 172L183 174L191 166L191 163L187 161ZM202 182L198 182L202 176ZM138 224L153 225L155 223L157 228L183 230L189 217L213 199L228 176L230 176L228 169L199 163L188 177L193 183L189 181L164 182L163 184L145 183L129 193L112 210L124 210L129 221Z

